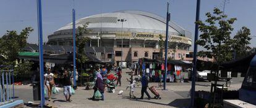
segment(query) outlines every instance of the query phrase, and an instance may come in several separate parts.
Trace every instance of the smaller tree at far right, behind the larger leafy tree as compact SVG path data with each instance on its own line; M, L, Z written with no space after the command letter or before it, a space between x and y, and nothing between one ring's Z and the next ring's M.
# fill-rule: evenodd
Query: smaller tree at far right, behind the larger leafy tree
M233 39L233 51L235 53L235 58L242 58L245 55L250 53L250 40L252 39L250 36L250 29L245 26L242 27L239 31L237 31L236 35Z

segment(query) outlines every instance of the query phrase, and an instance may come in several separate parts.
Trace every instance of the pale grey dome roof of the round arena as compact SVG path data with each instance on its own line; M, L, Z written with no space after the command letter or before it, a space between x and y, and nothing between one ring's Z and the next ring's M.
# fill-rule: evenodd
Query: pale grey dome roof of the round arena
M118 19L126 19L121 25ZM82 26L85 23L89 23L88 28L131 28L131 29L149 29L156 31L166 30L166 21L163 17L155 15L154 13L143 12L139 10L122 10L110 13L101 13L96 15L91 15L89 17L81 18L76 20L76 28ZM173 21L169 23L169 32L177 34L186 34L186 30L181 28ZM57 31L62 31L65 29L72 29L72 23L58 29ZM187 34L186 34L187 36Z

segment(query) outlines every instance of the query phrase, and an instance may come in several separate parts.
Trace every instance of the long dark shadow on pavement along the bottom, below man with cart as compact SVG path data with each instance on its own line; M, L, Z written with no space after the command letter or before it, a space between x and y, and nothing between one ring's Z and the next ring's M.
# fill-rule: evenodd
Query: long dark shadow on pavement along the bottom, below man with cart
M132 99L130 99L130 100L132 100ZM186 107L189 107L190 99L189 98L188 99L175 99L174 101L170 102L169 104L163 104L163 103L160 103L160 102L152 102L152 101L144 101L144 100L140 100L140 99L134 99L132 101L148 102L148 103L151 103L151 104L158 104L158 105L161 105L161 106L186 108Z

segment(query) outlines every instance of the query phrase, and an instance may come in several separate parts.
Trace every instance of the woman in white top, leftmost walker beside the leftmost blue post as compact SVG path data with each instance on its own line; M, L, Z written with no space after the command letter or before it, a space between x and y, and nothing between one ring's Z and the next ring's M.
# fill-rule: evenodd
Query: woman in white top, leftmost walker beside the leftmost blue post
M51 101L51 88L53 88L53 86L55 85L53 75L54 74L51 73L51 69L49 68L45 74L45 85L48 89L48 97L49 97L48 101Z

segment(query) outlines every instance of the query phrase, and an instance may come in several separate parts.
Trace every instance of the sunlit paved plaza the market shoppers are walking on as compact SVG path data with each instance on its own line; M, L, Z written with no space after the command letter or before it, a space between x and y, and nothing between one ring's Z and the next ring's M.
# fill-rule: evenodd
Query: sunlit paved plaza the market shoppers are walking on
M144 95L144 99L130 99L129 98L129 89L126 90L127 82L126 78L129 78L129 75L126 72L129 70L123 71L122 76L122 87L116 88L116 93L108 93L105 92L105 101L92 101L88 98L91 98L93 95L93 90L85 90L85 87L79 87L75 91L75 95L72 95L72 102L64 101L63 91L61 91L58 95L53 95L53 99L51 101L46 101L46 104L49 104L54 107L104 107L104 108L117 108L117 107L187 107L189 106L190 97L189 90L191 87L191 83L167 83L168 90L161 90L161 88L157 88L160 91L161 99L150 99L148 100L147 95ZM231 87L229 90L237 90L241 87L243 78L234 78L233 82L231 82ZM224 82L220 82L224 83ZM158 87L158 83L149 83L149 86L155 85ZM25 103L28 101L33 101L33 91L32 87L29 85L20 85L15 87L15 95L17 99L23 99ZM124 90L122 95L117 95L119 90ZM140 90L141 87L135 88L135 96L140 98ZM210 91L210 82L197 82L196 90L205 90ZM148 90L150 96L154 95ZM47 97L47 96L46 96ZM40 101L33 101L39 103Z

